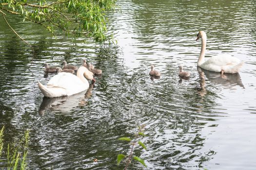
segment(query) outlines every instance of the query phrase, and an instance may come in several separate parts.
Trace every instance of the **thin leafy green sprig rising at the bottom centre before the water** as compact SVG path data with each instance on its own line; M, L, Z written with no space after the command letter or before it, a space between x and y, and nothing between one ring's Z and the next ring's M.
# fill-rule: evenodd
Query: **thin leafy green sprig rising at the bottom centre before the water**
M138 126L138 133L135 134L135 138L134 139L131 139L129 137L120 137L120 138L118 138L118 140L127 141L131 145L131 150L130 150L130 154L129 155L128 154L127 155L118 154L118 157L117 157L118 165L121 163L121 161L125 160L126 165L125 165L124 170L127 170L128 166L132 162L132 159L140 162L143 166L147 167L143 159L141 159L138 156L134 156L133 155L134 148L136 146L138 146L138 145L141 146L143 149L147 150L147 148L144 145L144 143L142 143L140 140L138 140L139 137L144 137L145 136L144 133L143 133L144 132L144 128L145 128L145 125Z

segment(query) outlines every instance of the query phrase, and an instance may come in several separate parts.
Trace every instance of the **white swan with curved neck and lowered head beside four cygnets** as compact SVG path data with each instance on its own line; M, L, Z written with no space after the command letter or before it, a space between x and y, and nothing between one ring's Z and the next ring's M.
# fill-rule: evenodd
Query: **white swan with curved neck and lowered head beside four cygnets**
M81 66L77 76L67 72L60 72L53 76L46 86L38 82L39 89L45 97L54 98L60 96L71 96L89 88L89 82L84 76L95 82L91 72Z

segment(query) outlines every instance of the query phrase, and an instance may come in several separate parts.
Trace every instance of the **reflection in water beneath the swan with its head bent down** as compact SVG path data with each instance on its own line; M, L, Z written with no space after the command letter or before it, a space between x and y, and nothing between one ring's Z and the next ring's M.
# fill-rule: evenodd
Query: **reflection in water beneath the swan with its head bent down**
M94 84L91 84L88 90L84 93L80 92L72 96L61 96L56 98L43 98L39 107L39 114L43 115L47 109L70 111L70 109L77 106L84 106L87 104L86 99L92 96Z

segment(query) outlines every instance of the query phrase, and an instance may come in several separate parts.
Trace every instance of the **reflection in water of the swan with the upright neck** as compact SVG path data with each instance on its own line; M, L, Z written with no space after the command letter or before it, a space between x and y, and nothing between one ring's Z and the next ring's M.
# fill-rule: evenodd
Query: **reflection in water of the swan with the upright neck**
M213 84L222 85L224 86L224 88L232 88L236 85L239 85L244 88L244 85L242 83L239 73L236 73L236 74L224 73L224 75L221 75L220 73L208 71L199 67L197 67L197 71L200 77L199 84L200 84L201 90L198 91L200 96L204 96L207 93L207 90L205 88L205 76Z

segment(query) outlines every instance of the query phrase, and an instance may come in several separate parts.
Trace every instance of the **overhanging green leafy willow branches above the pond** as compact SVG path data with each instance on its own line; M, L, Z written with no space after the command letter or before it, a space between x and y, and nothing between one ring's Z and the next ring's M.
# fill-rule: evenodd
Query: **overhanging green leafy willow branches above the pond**
M66 36L107 39L105 10L115 8L116 0L0 0L0 13L20 15L45 27L53 36L60 30ZM7 21L6 21L7 22Z

